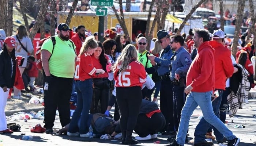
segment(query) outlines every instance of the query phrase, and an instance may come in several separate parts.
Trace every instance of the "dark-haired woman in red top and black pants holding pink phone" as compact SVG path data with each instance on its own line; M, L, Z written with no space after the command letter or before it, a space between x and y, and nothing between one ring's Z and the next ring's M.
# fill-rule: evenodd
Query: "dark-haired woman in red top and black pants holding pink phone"
M106 64L109 60L108 56L105 54L102 43L97 41L98 47L91 55L93 60L93 65L96 69L103 69L106 71ZM91 104L91 114L101 113L104 114L108 107L109 101L109 74L105 72L103 74L96 74L93 76L93 100ZM98 109L98 103L100 101L100 108Z

